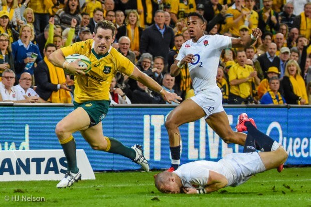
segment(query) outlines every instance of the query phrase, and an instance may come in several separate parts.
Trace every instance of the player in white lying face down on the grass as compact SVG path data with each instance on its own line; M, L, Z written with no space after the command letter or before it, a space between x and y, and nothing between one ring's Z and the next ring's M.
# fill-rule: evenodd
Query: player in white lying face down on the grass
M194 161L176 171L156 176L156 187L163 193L207 194L227 186L238 186L252 175L277 168L287 159L279 143L260 132L246 114L239 117L239 127L248 131L243 153L233 153L218 162ZM256 146L264 152L257 153Z

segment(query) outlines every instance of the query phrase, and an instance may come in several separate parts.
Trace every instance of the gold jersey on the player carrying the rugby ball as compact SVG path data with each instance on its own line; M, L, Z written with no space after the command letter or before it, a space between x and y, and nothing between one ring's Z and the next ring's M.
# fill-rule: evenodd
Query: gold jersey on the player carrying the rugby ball
M65 57L80 54L92 62L92 69L87 74L77 75L74 78L74 100L77 103L109 100L109 88L115 73L120 71L130 76L134 71L134 64L113 47L110 47L104 55L96 54L92 39L74 43L61 50Z

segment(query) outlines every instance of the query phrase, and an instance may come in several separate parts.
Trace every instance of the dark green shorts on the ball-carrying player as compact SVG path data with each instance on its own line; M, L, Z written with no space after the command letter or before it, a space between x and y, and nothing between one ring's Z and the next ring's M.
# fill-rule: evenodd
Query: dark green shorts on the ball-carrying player
M100 101L86 101L84 103L73 102L76 108L82 107L91 119L90 127L97 125L101 122L108 113L110 101L100 100Z

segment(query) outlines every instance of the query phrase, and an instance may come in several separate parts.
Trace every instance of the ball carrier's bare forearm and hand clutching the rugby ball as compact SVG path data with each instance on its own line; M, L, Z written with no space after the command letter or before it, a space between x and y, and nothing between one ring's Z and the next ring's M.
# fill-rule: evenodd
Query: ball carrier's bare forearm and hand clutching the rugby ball
M56 67L66 68L70 73L75 75L85 75L83 70L86 70L87 68L78 65L80 60L81 59L77 59L71 63L67 62L61 49L58 49L49 55L49 61Z

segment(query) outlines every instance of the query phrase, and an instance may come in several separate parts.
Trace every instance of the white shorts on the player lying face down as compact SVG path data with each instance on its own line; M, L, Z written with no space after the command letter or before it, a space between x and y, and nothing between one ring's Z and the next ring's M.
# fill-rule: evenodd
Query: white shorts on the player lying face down
M228 154L222 160L235 169L236 177L231 186L243 184L252 175L266 170L258 152Z

